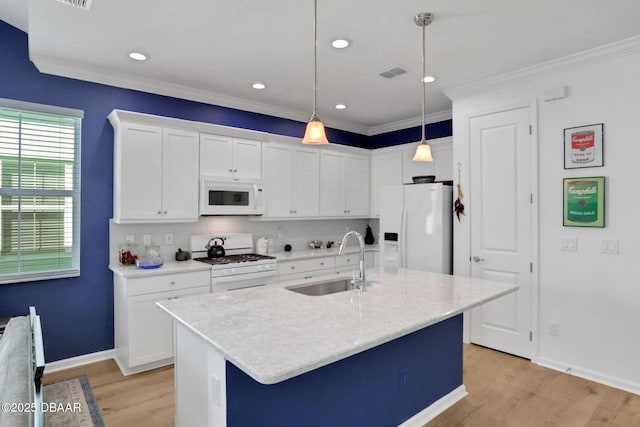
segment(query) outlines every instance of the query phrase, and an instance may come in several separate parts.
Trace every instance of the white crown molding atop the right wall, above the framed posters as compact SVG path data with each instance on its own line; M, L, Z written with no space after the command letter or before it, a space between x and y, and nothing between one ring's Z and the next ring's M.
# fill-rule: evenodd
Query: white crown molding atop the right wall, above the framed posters
M526 83L531 80L552 76L589 65L606 62L615 58L640 52L640 36L630 37L618 42L585 50L531 67L521 68L510 73L479 80L444 91L451 100L472 95L488 89Z

